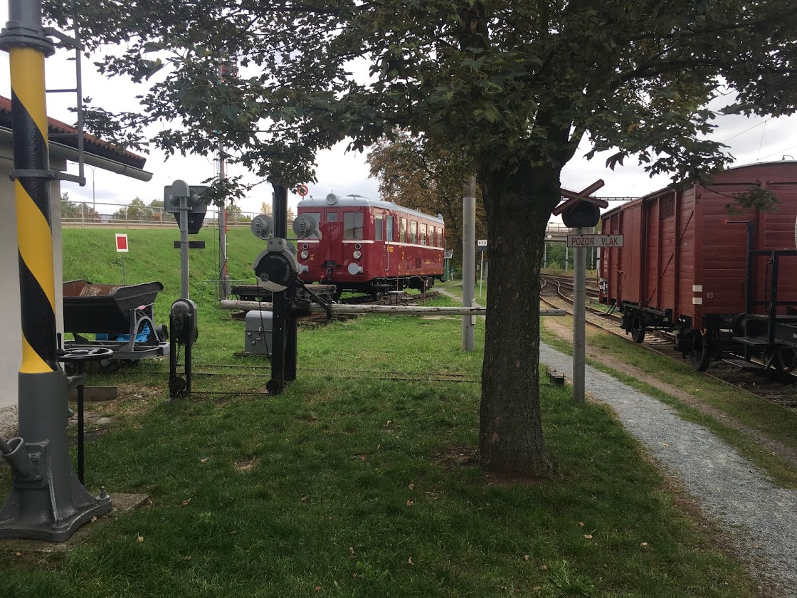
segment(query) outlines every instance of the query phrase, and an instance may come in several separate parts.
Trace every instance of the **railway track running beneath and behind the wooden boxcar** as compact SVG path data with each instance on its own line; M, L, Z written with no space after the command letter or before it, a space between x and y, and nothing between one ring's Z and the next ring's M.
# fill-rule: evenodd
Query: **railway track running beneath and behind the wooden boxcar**
M540 276L540 301L554 309L564 309L572 314L572 284L563 284L559 277ZM589 293L587 292L587 297ZM622 329L620 317L603 312L587 305L586 319L589 325L620 336L628 342L634 342L630 335ZM665 331L647 331L645 341L640 346L648 351L658 353L668 359L683 364L681 354L673 348L675 335ZM760 372L751 372L726 364L722 360L712 362L711 372L700 372L713 380L730 384L760 399L778 403L783 407L797 407L797 376L779 372L778 376L762 376Z

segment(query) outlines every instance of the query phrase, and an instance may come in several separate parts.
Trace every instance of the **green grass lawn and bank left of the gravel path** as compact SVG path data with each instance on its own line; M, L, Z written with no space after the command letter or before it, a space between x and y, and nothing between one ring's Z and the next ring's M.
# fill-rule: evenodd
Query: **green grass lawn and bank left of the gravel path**
M66 277L119 280L110 234L65 232ZM240 234L230 272L251 278L264 244ZM128 281L167 286L160 321L179 293L173 237L130 237ZM755 595L638 443L567 388L542 384L549 478L485 478L463 458L477 443L481 321L472 354L459 317L301 329L298 379L266 398L260 368L215 367L263 362L233 356L243 325L207 285L198 293L215 277L212 251L192 258L194 390L231 394L170 402L162 362L93 374L121 396L90 406L112 423L90 427L88 484L151 502L92 524L67 553L0 553L0 596ZM200 373L211 371L222 374ZM461 380L432 380L442 373Z

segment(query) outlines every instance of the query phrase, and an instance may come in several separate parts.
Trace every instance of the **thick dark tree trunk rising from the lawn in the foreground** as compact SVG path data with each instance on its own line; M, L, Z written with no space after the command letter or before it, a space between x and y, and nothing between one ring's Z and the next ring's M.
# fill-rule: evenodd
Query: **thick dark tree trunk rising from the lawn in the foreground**
M480 171L488 224L485 361L479 464L483 470L548 470L540 419L540 266L545 226L559 203L559 168Z

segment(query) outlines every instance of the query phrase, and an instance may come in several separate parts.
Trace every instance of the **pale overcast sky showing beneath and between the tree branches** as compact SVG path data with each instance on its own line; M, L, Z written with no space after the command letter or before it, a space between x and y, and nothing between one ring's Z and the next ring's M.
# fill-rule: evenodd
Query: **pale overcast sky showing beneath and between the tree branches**
M7 6L5 2L0 7L0 22L7 21ZM72 52L58 50L57 53L45 62L47 87L49 89L72 88L74 81L74 62L68 61L73 56ZM135 85L120 77L111 80L100 76L95 71L91 58L83 61L83 95L92 98L93 103L102 105L110 111L135 110L135 95L143 92L141 85ZM0 56L0 95L10 97L10 75L8 54L3 52ZM49 93L47 96L49 116L73 124L74 114L68 108L75 104L73 94ZM745 116L722 116L717 121L718 128L714 138L730 147L730 153L736 159L734 165L754 162L768 162L794 159L797 156L797 116L781 119L747 118ZM153 134L155 131L152 132ZM339 144L332 150L320 151L316 162L318 168L316 178L318 183L308 184L310 195L326 195L335 191L338 195L355 193L367 197L377 197L378 183L375 179L368 178L368 167L365 155L344 151L346 144ZM606 185L595 195L603 197L639 197L651 191L665 187L669 183L666 176L650 179L638 164L626 161L626 166L617 167L611 171L604 167L605 156L598 155L595 159L587 160L583 155L589 150L587 144L582 144L575 158L567 164L562 175L562 185L573 191L580 191L597 179L603 179ZM147 155L145 170L154 174L152 180L143 183L120 175L113 175L106 171L86 169L88 184L79 187L75 183L63 182L62 190L69 193L73 201L92 201L92 178L94 195L97 203L129 203L135 197L150 203L152 199L163 199L163 186L171 184L174 179L184 179L188 183L199 183L203 179L218 173L216 156L190 156L187 158L171 157L166 160L164 155L153 150ZM76 167L70 171L77 172ZM242 167L230 166L228 175L246 175ZM249 182L257 179L247 175ZM298 196L289 198L294 204ZM259 212L262 202L270 203L271 187L267 184L254 187L249 196L238 202L245 212ZM611 206L610 206L611 207ZM103 213L106 210L98 207Z

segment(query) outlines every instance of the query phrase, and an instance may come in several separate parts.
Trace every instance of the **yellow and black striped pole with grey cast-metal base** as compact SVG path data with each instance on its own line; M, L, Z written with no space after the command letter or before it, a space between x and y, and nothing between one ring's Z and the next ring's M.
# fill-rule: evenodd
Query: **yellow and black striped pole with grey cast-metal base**
M41 0L10 0L9 17L0 49L9 53L11 73L22 365L20 435L0 450L14 474L0 537L61 542L111 504L79 482L66 439L69 388L58 365L49 192L57 173L49 169L45 102L45 56L53 44L41 27Z

